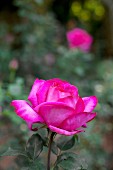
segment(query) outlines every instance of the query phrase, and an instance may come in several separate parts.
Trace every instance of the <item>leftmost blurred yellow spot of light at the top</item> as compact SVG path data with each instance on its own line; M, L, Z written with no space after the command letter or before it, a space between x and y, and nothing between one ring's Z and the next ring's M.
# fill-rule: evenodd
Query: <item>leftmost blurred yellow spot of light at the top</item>
M72 3L71 10L72 10L74 15L79 14L81 9L82 9L82 7L81 7L81 4L79 2Z

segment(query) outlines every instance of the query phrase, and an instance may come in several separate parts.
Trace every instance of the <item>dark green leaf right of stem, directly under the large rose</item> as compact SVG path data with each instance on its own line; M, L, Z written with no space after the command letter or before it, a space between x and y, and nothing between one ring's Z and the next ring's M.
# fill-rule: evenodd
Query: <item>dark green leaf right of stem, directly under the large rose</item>
M57 146L60 150L68 150L71 149L75 144L75 137L74 136L61 136L58 139Z

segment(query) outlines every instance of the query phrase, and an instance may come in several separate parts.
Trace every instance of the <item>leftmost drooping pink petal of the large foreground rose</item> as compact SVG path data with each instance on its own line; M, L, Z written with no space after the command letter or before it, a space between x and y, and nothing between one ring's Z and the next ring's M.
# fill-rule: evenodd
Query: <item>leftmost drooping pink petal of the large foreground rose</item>
M25 120L30 128L32 128L31 125L33 123L44 123L42 117L38 115L25 100L13 100L11 106L14 106L17 115Z

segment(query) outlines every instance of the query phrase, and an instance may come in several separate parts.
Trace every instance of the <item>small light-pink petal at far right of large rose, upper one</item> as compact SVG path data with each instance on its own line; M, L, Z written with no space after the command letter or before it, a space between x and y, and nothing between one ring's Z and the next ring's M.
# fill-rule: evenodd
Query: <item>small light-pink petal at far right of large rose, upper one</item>
M84 112L92 112L98 103L96 96L83 97L82 100L84 101L85 105Z

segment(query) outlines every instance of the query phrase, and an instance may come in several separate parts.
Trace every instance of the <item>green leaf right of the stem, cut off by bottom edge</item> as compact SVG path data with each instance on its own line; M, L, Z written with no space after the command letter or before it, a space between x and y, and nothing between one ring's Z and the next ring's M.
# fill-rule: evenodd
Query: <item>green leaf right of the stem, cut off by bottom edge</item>
M72 152L66 152L58 156L55 168L57 167L63 168L64 170L82 170L81 168L87 170L85 159Z

